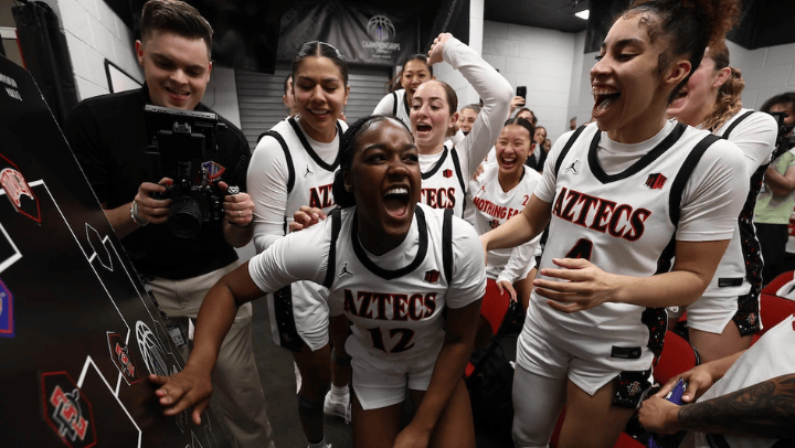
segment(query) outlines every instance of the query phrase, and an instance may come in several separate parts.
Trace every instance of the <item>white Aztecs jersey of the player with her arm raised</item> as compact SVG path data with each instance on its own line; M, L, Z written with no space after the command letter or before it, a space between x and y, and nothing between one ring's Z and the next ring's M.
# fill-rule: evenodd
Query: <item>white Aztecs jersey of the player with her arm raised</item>
M453 209L456 216L463 217L467 183L458 157L455 148L446 147L438 154L420 154L423 171L420 203L432 209Z

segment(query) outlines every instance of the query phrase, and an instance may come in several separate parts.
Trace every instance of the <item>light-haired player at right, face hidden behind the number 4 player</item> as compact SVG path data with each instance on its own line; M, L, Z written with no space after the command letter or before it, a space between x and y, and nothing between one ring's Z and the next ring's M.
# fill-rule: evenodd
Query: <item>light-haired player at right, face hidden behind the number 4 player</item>
M718 42L668 107L668 116L736 145L745 154L750 182L750 193L714 277L701 298L687 307L689 341L702 363L748 349L761 329L762 257L752 220L778 127L770 115L742 107L744 85L742 74L729 66L725 42Z

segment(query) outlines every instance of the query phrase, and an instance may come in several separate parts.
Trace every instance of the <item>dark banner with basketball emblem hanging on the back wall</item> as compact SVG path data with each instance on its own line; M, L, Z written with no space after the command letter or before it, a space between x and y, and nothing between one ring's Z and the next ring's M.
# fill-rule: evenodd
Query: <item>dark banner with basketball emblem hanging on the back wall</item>
M339 1L296 2L282 15L277 58L292 60L300 45L322 41L349 63L399 65L418 53L418 10L388 11Z

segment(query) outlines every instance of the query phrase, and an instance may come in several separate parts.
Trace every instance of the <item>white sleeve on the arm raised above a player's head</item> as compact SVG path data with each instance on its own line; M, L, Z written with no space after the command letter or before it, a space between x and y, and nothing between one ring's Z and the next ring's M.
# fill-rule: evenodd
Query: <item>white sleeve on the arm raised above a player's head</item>
M510 111L510 100L513 89L491 65L480 57L475 50L453 38L444 47L445 62L460 72L464 78L475 87L475 92L484 102L480 114L473 125L473 129L464 140L456 146L462 154L464 178L471 179L477 167L483 162L489 149L497 141L502 125Z

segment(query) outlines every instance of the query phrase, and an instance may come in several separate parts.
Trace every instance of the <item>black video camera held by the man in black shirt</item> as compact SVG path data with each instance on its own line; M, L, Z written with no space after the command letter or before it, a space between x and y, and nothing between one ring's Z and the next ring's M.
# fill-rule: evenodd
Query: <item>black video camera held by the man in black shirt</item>
M202 223L223 217L224 193L218 180L224 168L219 160L215 135L226 126L218 115L147 105L144 109L149 146L147 152L160 159L156 171L173 180L156 199L170 199L168 226L174 236L190 238ZM230 186L227 194L236 194Z

